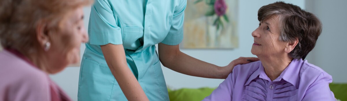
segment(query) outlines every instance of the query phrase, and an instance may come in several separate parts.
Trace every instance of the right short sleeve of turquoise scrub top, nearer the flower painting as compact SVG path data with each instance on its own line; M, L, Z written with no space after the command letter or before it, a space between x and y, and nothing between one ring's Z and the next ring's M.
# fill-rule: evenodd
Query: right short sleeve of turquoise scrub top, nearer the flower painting
M166 45L178 45L181 43L183 40L184 10L186 6L187 0L181 0L179 6L175 8L171 28L168 35L161 43Z

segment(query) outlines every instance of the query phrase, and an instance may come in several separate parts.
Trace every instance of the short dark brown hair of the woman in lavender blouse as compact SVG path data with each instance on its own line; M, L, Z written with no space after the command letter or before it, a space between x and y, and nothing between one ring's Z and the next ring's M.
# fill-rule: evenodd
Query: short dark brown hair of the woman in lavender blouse
M279 16L280 41L290 42L299 39L289 55L305 59L322 32L321 21L312 13L282 1L261 7L258 11L258 20L262 22L274 15Z

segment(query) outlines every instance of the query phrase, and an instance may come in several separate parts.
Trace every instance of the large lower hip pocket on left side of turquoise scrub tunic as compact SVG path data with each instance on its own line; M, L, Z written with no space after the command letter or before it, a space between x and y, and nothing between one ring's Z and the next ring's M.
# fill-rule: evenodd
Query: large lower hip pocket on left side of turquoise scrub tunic
M84 59L78 87L78 101L109 101L115 81L107 65Z

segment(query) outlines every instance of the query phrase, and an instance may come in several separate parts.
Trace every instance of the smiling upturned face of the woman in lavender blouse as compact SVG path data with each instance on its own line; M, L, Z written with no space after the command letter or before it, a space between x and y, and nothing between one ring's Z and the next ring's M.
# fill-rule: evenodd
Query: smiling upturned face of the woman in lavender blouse
M254 43L252 54L260 56L276 56L284 52L285 42L279 40L279 17L272 16L260 22L260 26L252 33Z

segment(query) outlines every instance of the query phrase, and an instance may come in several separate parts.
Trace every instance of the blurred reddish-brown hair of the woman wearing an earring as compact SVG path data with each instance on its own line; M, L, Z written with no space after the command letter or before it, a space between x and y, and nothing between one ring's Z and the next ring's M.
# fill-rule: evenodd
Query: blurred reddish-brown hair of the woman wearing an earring
M16 49L22 54L38 52L36 24L47 21L49 29L60 31L67 13L93 0L1 0L0 44L2 48Z

